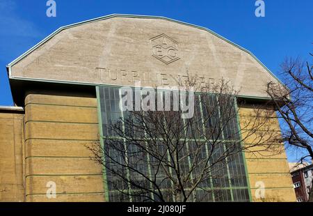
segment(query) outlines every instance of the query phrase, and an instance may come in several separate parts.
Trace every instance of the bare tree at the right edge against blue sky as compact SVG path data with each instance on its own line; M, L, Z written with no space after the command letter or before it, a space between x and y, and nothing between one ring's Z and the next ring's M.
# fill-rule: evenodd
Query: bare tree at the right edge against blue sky
M287 88L268 83L267 92L284 123L282 141L304 150L305 155L299 160L302 164L313 159L313 65L299 58L286 59L281 68ZM312 185L309 197L313 201Z

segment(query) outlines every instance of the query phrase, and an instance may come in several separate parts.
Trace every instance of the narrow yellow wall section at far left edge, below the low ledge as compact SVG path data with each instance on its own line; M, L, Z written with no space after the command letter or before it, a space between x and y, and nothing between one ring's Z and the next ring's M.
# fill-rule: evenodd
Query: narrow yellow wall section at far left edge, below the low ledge
M0 201L25 200L24 114L0 113Z

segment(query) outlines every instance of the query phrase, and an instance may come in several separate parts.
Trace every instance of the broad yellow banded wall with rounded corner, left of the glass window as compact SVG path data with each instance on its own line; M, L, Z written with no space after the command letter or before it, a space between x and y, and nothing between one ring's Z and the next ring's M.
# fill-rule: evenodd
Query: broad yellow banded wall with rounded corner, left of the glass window
M102 166L86 148L98 134L95 98L27 95L26 201L104 201ZM56 199L46 196L49 181Z

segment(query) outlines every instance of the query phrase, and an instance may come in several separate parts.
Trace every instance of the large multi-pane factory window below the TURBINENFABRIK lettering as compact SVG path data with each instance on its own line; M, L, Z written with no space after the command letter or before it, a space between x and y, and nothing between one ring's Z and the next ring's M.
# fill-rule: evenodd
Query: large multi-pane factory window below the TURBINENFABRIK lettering
M140 90L139 90L140 91ZM143 91L141 91L143 93ZM163 92L164 93L164 92ZM102 140L108 140L108 139L116 139L118 140L118 143L120 145L125 145L125 149L129 149L129 151L125 151L125 154L127 155L128 160L132 161L131 158L132 153L136 153L136 149L138 148L136 146L129 145L125 139L122 139L122 137L116 137L116 134L112 134L112 130L109 128L109 124L113 121L117 121L119 118L129 118L129 116L132 116L134 114L131 114L129 111L121 111L120 106L122 102L122 98L119 94L119 88L113 87L113 86L99 86L97 87L97 97L98 97L98 103L99 103L99 111L100 111L100 125L102 126ZM207 95L207 100L209 103L211 103L212 106L217 106L216 104L216 96L215 95ZM134 95L133 95L133 98ZM200 98L200 97L199 97ZM197 96L195 95L195 100L197 100ZM204 99L205 100L205 99ZM235 100L234 100L235 102ZM202 111L201 105L199 107L195 107L195 118L200 118L199 122L201 121L201 116L204 116L204 111ZM132 117L134 118L134 117ZM237 119L234 118L232 122L230 122L229 125L225 128L225 134L221 134L220 137L227 137L227 134L234 133L235 131L238 131L238 122ZM202 126L204 127L204 126ZM125 128L125 127L124 127ZM129 130L124 129L125 132L128 132ZM126 131L127 130L127 131ZM204 133L206 130L204 130ZM145 136L145 133L142 134ZM193 134L192 134L193 135ZM191 134L186 133L186 136L189 137ZM198 136L195 135L195 136ZM200 137L198 137L199 141ZM218 138L218 137L216 137ZM156 138L156 139L161 139ZM222 138L218 138L222 139ZM239 139L239 138L236 138ZM226 140L223 139L223 142L232 142L234 140ZM188 144L184 148L193 148L195 145L195 141L192 139L188 141ZM207 145L207 142L204 142L205 148L210 148L209 144ZM159 148L159 147L158 147ZM163 148L160 146L160 148ZM185 152L185 150L183 149ZM223 151L222 148L218 151ZM217 151L217 152L218 152ZM111 154L111 150L109 150ZM112 152L113 155L117 154L115 152ZM201 157L206 157L208 155L208 152L204 149L203 155ZM118 157L121 157L120 155ZM143 173L147 173L147 175L154 176L155 173L157 173L157 177L159 177L159 180L161 181L162 188L161 190L167 191L170 190L171 182L170 180L163 178L165 173L160 172L159 170L155 169L155 159L152 155L145 155L145 160L141 162L136 163L136 166L138 166ZM105 159L107 160L107 159ZM120 159L122 160L122 158ZM193 164L193 160L195 160L192 157L186 157L186 162L182 166L183 169L188 170ZM135 161L135 159L134 159ZM107 161L108 164L113 164L110 161ZM169 170L170 171L170 170ZM122 168L122 172L125 172L125 178L135 178L136 176L129 174L129 171ZM213 171L212 171L213 172ZM193 173L197 175L197 173ZM246 169L245 169L245 162L243 159L242 153L237 153L234 155L234 160L229 162L227 167L219 169L218 170L218 178L216 179L208 179L201 183L200 187L197 188L193 194L193 197L188 201L250 201L249 192L248 192L248 182L247 182L247 176L246 176ZM137 176L138 177L138 176ZM142 183L145 184L146 180L142 179ZM122 194L122 190L134 190L136 192L137 189L134 189L131 185L127 185L124 182L122 183L119 178L114 173L110 173L109 171L106 171L106 182L107 182L107 188L108 188L108 194L106 194L107 199L109 201L145 201L144 197L138 197L138 196L129 196L129 194ZM163 183L162 183L163 182ZM152 188L153 190L153 188ZM146 194L147 196L154 196L154 194L151 192L150 194ZM168 196L168 201L172 201L172 198Z

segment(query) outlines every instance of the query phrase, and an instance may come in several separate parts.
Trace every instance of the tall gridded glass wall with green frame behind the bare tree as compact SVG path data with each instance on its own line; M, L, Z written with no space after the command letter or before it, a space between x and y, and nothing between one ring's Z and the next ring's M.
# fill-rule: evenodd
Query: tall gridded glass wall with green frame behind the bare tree
M118 137L118 135L111 129L111 125L117 123L118 121L128 118L129 115L131 115L131 112L129 111L122 111L120 107L120 103L122 100L122 97L119 92L120 87L114 87L114 86L98 86L97 87L97 100L99 102L99 114L100 114L100 124L102 131L101 139L104 144L105 148L105 141L104 140L113 140L115 141L116 145L122 145L125 148L125 154L127 155L127 162L132 163L136 169L140 170L141 172L145 173L147 176L153 176L156 173L156 166L154 157L152 155L141 155L141 159L138 160L137 157L135 157L136 153L136 146L133 146L123 137ZM199 100L199 95L195 94L195 100ZM211 106L218 106L216 102L216 96L215 95L207 95L207 102ZM235 100L235 99L234 99ZM235 101L234 101L235 102ZM197 107L195 107L195 116L193 118L198 118L200 123L203 123L201 119L203 116L205 116L205 109L201 103L198 104ZM122 122L122 121L121 121ZM205 127L202 132L206 132L205 128L206 125L203 125ZM220 134L219 139L223 139L223 142L227 144L227 142L233 142L234 139L236 139L235 136L230 136L230 134L238 132L239 124L237 122L237 118L233 118L232 121L227 123L225 129L223 130L223 134ZM191 136L192 130L189 130L188 133L186 133L186 136ZM192 134L194 136L194 134ZM239 136L239 135L238 135ZM225 137L233 137L232 140L228 140ZM235 137L235 138L234 138ZM156 137L158 138L158 137ZM183 137L182 137L183 138ZM237 138L239 140L239 137ZM199 139L198 141L201 141ZM203 142L207 142L207 140L204 140ZM191 139L187 142L186 146L182 148L182 151L180 154L184 155L184 151L191 151L192 148L195 147L195 141ZM162 145L160 145L158 148L163 148ZM209 144L203 145L203 151L200 154L200 157L205 158L209 157L209 151L210 148ZM162 151L162 150L160 150ZM122 162L123 159L125 159L125 155L121 155L121 153L115 152L115 149L110 150L109 152L111 155L116 156L116 160ZM223 153L223 146L218 148L216 150L216 155L212 157L212 160L214 160L214 157L218 157L218 154ZM111 164L110 166L116 166L118 168L118 165L115 165L113 162L110 162L108 158L105 158L106 162L108 164ZM193 162L193 160L199 160L199 158L195 159L192 157L186 157L186 160L182 162L182 169L188 170ZM193 196L191 196L188 201L250 201L249 199L249 193L248 193L248 183L247 183L247 176L245 171L245 164L243 161L243 155L241 152L236 153L235 155L232 155L232 160L230 160L226 165L223 165L222 167L218 168L218 165L216 166L216 172L218 173L218 176L220 178L204 178L204 180L200 183L199 187L193 192ZM140 179L140 176L136 176L136 173L133 173L125 168L120 167L120 171L123 173L125 178L138 178L138 180L142 183L144 187L151 187L153 190L153 186L150 185L144 178ZM194 175L200 174L196 173L197 169L193 171ZM212 173L215 172L215 170L211 171ZM118 176L114 175L110 171L105 171L106 179L106 189L107 189L107 196L109 196L109 201L145 201L141 196L130 196L128 193L122 193L122 190L127 190L128 192L131 190L136 191L136 188L134 188L132 185L128 185L124 180L120 180ZM159 179L159 184L161 185L161 190L166 191L168 188L171 187L170 180L165 178L165 173L162 173L162 171L158 170L157 173L157 179ZM147 196L154 196L153 193L147 194ZM154 199L156 200L156 199ZM173 198L171 196L168 196L167 201L173 201Z

